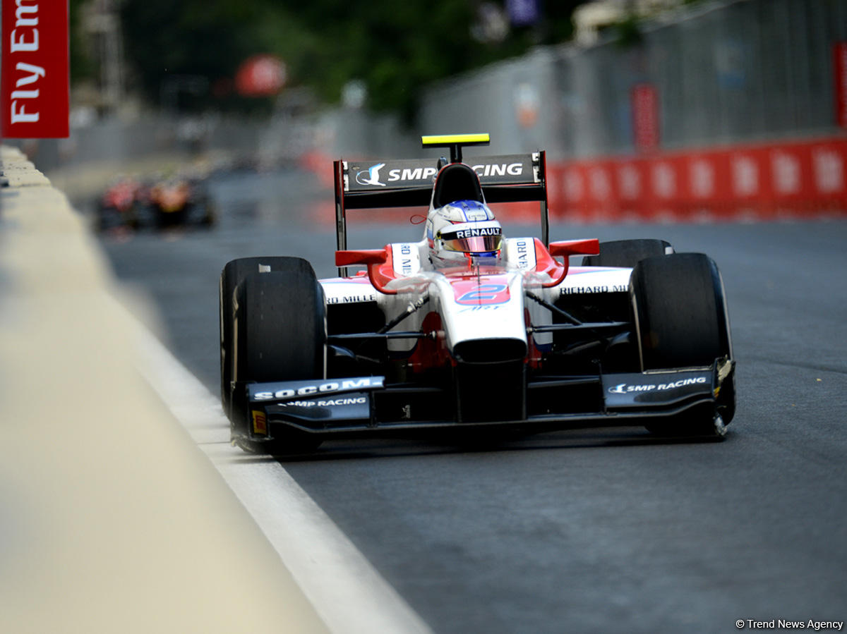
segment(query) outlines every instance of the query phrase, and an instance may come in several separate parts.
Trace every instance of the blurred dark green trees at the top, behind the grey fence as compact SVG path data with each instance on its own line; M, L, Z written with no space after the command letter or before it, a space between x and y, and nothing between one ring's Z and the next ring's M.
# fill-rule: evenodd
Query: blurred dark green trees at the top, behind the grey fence
M174 77L208 81L204 94L180 91L182 108L243 108L226 89L239 64L270 52L285 60L289 85L308 85L337 102L347 82L368 88L368 106L412 114L421 89L525 52L567 40L578 0L547 0L540 25L478 41L474 0L125 0L127 58L141 87L160 102ZM501 6L500 3L495 3ZM191 94L188 94L191 93Z

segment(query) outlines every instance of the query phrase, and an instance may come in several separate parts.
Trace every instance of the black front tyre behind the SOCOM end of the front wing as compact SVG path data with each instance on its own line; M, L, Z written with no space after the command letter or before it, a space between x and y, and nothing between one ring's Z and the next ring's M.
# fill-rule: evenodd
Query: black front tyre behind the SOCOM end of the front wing
M313 451L319 437L283 427L274 438L251 438L246 391L250 382L323 378L326 365L324 291L305 260L278 262L283 272L251 271L235 287L230 405L233 438L242 449L270 454Z

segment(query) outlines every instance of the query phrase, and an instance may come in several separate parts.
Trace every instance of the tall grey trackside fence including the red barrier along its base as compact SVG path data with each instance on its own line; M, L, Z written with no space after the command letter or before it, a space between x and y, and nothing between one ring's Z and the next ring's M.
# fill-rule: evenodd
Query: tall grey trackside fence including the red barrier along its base
M844 212L847 3L702 3L626 45L539 48L427 91L420 128L545 148L572 220Z

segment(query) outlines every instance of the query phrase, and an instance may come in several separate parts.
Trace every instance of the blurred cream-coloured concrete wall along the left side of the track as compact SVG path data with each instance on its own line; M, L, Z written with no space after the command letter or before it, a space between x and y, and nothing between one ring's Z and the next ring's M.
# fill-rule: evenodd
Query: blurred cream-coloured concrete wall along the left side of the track
M0 631L326 631L141 379L82 218L0 163Z

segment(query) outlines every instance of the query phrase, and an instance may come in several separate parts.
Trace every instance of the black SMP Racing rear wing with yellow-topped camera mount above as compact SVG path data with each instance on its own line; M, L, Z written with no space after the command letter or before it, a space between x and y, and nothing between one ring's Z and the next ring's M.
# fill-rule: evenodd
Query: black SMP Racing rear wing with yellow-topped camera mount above
M449 147L451 160L403 159L335 161L335 236L338 251L347 248L346 211L385 207L427 207L435 174L447 163L462 162L462 146L488 145L488 135L422 137L424 147ZM479 175L486 202L538 201L541 240L548 245L547 168L545 152L468 157ZM346 273L346 272L345 272ZM345 274L341 273L340 274Z

